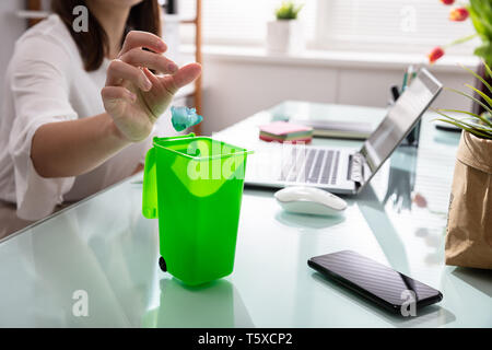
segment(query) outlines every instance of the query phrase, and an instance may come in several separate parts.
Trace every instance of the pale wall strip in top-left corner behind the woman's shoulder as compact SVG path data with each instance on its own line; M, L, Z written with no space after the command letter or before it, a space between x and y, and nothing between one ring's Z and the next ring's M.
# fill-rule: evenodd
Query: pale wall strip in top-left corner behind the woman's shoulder
M15 40L26 28L26 22L15 15L15 12L23 7L24 1L21 0L0 1L0 91L3 91L5 69L12 56ZM0 97L0 110L1 101Z

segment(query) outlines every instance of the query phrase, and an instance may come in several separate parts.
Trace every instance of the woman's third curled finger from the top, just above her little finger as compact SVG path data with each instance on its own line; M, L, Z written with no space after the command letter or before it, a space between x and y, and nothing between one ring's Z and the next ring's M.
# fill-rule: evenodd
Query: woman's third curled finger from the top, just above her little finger
M130 81L143 91L152 89L152 83L141 69L115 59L107 69L106 86L120 85L124 80Z

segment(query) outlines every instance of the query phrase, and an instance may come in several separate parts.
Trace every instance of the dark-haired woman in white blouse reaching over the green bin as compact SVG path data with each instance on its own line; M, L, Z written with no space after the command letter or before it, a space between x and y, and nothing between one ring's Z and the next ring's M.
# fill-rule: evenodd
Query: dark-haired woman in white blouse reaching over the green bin
M201 72L163 55L157 0L51 3L55 14L16 43L0 118L0 199L24 220L140 170L155 120ZM87 32L74 30L78 5Z

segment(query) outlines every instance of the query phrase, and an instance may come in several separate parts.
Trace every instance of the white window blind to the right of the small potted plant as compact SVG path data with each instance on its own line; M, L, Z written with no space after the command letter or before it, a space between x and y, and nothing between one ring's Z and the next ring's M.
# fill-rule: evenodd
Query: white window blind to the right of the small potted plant
M445 45L475 33L471 22L450 22L438 0L320 0L321 46L412 48ZM475 43L461 47L470 50Z

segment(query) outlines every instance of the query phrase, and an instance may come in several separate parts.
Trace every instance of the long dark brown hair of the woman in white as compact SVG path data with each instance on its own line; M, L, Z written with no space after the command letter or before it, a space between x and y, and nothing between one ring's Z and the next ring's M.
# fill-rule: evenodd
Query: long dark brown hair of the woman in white
M72 14L72 11L78 5L87 7L85 0L51 0L51 10L60 16L77 43L85 70L97 70L109 50L107 35L91 10L89 10L89 32L77 33L73 31L72 23L75 15ZM157 0L143 0L131 8L126 31L131 30L150 32L161 36Z

